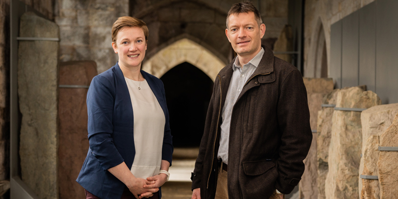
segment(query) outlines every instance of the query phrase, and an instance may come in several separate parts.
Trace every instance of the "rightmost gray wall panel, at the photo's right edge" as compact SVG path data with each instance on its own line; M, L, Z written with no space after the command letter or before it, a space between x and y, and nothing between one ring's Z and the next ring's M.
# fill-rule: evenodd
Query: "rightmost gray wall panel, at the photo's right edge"
M398 0L378 0L376 91L383 103L398 102Z

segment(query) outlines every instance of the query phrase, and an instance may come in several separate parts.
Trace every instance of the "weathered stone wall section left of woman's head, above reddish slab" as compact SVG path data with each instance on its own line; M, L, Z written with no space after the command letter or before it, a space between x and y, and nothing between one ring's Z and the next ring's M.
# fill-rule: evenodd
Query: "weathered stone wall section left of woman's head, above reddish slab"
M128 0L56 0L55 22L60 27L60 61L94 60L101 73L117 62L111 28L128 15Z

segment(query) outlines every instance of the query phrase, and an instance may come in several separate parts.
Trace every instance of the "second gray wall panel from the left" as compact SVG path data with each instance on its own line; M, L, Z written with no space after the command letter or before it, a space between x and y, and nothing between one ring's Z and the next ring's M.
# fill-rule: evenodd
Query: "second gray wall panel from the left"
M353 12L342 21L342 87L355 87L359 83L359 11Z

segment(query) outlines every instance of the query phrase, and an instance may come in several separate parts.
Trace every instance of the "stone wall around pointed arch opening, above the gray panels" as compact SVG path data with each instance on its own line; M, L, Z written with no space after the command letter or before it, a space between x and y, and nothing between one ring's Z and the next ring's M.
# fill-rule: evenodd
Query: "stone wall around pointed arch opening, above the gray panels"
M304 77L315 77L318 33L324 30L327 63L330 64L330 26L375 0L305 0ZM322 49L319 49L322 50ZM321 54L321 53L319 53ZM329 67L328 67L329 68ZM328 72L329 74L329 72Z

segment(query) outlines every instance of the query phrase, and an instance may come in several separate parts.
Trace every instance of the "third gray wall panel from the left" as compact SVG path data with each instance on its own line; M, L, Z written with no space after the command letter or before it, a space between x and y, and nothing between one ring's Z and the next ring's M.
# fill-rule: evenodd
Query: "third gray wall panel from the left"
M376 92L376 4L359 10L359 85Z

